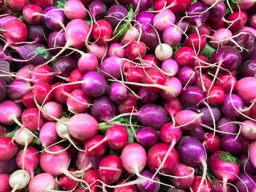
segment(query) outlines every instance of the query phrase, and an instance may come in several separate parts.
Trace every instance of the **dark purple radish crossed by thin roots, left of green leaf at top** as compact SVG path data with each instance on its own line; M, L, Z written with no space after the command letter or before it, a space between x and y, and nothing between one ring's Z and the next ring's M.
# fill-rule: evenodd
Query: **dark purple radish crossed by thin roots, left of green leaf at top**
M114 4L108 9L107 14L105 15L106 20L110 23L110 25L115 28L117 25L121 25L124 18L127 17L127 9L121 4Z

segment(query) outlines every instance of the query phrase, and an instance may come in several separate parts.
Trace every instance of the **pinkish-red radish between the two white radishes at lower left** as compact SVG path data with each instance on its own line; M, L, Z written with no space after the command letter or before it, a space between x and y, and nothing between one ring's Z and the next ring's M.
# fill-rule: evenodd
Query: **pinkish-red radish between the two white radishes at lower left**
M17 165L20 169L29 172L31 178L34 177L34 169L39 165L39 154L34 147L27 147L26 150L20 150L16 156Z

